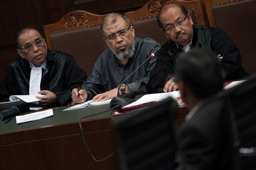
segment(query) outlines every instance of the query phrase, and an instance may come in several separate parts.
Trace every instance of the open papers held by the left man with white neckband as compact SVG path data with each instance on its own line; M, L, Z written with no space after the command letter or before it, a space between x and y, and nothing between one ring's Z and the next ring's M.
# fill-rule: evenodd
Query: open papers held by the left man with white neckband
M0 103L0 108L10 108L12 106L18 108L27 108L27 107L39 107L38 101L40 99L35 98L36 96L42 97L44 95L13 95L10 96L10 102Z

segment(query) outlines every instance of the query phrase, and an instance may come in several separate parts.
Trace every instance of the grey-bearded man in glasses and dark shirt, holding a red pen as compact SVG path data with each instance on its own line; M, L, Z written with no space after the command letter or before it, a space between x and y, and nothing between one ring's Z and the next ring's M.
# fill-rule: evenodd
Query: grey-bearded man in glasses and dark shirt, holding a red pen
M97 99L96 102L105 101L116 97L118 85L150 57L153 51L160 49L160 45L153 39L135 37L133 26L123 14L109 14L102 21L100 29L109 48L99 56L93 73L79 92L77 88L72 90L72 100L75 103L91 99ZM120 85L119 93L146 93L149 72L154 68L155 62L155 57L148 60Z

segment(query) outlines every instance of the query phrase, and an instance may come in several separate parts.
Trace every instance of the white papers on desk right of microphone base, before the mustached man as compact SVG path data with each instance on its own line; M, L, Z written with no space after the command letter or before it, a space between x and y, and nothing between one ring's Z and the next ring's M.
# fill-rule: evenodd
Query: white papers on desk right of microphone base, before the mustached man
M172 91L172 92L167 92L167 93L156 93L156 94L144 95L137 101L135 101L131 104L128 104L122 108L141 105L141 104L148 103L148 102L158 102L158 101L164 100L168 97L175 99L179 105L185 104L183 102L183 100L181 99L180 91Z

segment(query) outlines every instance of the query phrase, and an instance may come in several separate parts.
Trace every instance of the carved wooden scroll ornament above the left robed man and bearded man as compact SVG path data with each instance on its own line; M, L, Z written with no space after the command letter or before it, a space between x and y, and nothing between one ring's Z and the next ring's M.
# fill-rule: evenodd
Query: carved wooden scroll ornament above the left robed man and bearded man
M70 15L64 17L65 27L77 27L86 25L88 23L88 17L84 13L72 12Z

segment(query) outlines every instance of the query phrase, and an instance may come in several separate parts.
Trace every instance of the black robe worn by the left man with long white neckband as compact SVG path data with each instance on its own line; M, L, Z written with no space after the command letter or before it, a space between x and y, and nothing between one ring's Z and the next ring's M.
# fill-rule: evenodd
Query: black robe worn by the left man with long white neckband
M72 89L83 84L88 76L67 53L47 50L46 60L48 72L42 76L40 88L54 92L58 99L48 107L67 105L72 101ZM0 102L10 101L11 95L29 95L30 71L29 62L22 57L8 65L0 85Z

